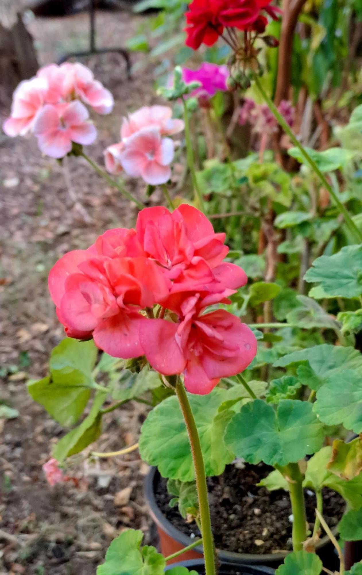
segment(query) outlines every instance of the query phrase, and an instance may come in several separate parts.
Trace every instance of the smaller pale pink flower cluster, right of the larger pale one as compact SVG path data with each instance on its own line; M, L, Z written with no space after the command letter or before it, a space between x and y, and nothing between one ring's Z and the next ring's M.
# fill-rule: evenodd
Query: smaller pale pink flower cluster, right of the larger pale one
M121 141L105 151L106 170L133 178L141 177L153 186L166 183L171 177L174 141L170 137L184 128L182 120L172 118L168 106L143 106L121 126Z

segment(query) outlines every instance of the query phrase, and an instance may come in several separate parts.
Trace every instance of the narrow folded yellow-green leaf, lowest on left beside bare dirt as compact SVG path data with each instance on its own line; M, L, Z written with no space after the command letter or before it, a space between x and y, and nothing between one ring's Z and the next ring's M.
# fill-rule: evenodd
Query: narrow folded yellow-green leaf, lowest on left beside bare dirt
M89 415L78 427L64 435L53 448L53 457L60 463L70 455L79 453L101 435L101 407L107 397L107 392L97 392Z

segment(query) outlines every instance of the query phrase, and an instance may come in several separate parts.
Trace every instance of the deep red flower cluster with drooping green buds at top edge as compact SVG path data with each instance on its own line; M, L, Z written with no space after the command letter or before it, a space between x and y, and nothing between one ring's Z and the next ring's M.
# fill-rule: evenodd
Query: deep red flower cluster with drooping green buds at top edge
M272 0L192 0L186 12L186 45L197 50L201 44L212 46L219 37L232 48L229 61L230 90L250 85L248 70L260 73L255 41L265 32L267 16L274 20L280 10ZM238 33L242 32L242 35ZM272 36L262 39L269 46L278 46Z

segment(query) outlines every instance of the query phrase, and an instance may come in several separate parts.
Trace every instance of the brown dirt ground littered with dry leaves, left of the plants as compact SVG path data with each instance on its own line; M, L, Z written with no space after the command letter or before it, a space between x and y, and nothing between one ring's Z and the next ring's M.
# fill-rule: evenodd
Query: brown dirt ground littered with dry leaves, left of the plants
M126 11L99 12L99 45L121 45L140 22ZM29 29L41 64L87 46L86 14L37 18ZM132 55L133 62L144 57ZM104 148L118 140L121 116L156 101L152 70L146 67L128 80L124 60L115 53L83 62L116 102L111 116L97 117L98 140L87 150L103 164ZM1 119L8 112L0 110ZM63 167L42 158L32 138L0 134L0 151L0 400L19 411L15 419L0 420L0 575L91 575L122 529L141 528L149 543L142 489L147 466L137 452L94 464L79 457L76 481L50 488L41 465L63 430L28 396L26 380L47 373L49 352L64 336L47 291L52 264L68 250L89 246L107 228L133 225L136 209L82 159L67 162L67 184ZM88 223L74 208L70 186ZM141 197L140 182L127 186ZM137 440L143 408L129 405L107 417L105 434L93 448L116 450ZM132 489L116 505L114 494L126 487Z

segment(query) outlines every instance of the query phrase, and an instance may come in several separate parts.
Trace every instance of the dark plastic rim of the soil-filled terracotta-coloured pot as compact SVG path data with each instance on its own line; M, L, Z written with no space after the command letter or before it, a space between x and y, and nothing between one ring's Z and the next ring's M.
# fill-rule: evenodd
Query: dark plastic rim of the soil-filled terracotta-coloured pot
M167 533L167 535L171 536L172 539L175 539L181 545L187 547L191 545L192 539L185 535L182 531L180 531L177 527L172 525L170 521L163 515L160 508L157 506L156 497L155 497L155 481L159 476L159 471L157 467L151 467L147 476L145 477L144 483L144 490L145 490L145 499L146 504L148 507L149 514L151 515L153 521L156 523L157 527L159 527L162 531ZM316 550L321 550L322 547L328 545L330 543L328 535L323 537L316 546ZM197 553L202 554L202 546L194 547L194 551ZM223 551L217 549L217 554L219 559L223 563L249 563L249 564L263 564L263 563L275 563L280 564L283 563L284 558L288 553L291 551L279 551L278 553L265 553L265 554L253 554L253 553L235 553L234 551Z

